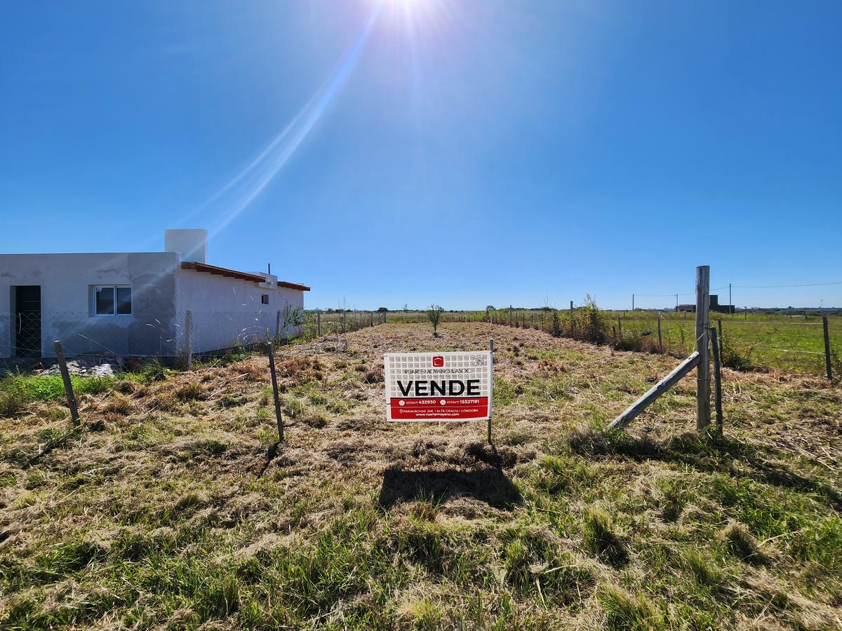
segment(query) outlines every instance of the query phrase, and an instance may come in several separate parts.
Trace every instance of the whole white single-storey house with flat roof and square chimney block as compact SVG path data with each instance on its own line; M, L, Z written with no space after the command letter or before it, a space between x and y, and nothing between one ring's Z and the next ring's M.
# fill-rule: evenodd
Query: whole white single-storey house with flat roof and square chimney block
M206 257L205 230L166 231L164 252L0 254L0 358L54 357L54 340L67 355L172 357L188 340L205 353L300 334L309 287Z

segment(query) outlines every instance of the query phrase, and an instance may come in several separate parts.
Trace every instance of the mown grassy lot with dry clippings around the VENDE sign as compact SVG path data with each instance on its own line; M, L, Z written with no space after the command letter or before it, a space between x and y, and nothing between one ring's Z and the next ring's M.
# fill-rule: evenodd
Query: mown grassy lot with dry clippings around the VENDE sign
M483 323L386 324L267 360L0 383L0 627L840 628L842 389ZM484 423L384 421L382 354L487 347ZM57 392L57 394L56 394Z

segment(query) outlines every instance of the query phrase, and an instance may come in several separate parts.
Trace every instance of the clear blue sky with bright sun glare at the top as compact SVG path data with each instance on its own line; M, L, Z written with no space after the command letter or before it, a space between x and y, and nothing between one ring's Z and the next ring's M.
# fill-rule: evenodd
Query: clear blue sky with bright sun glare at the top
M8 4L0 252L206 227L322 307L842 281L840 31L834 2Z

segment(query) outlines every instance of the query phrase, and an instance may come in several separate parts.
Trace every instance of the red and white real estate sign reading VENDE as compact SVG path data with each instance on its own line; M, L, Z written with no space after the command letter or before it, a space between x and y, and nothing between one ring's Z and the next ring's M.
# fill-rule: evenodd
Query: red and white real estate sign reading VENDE
M386 353L388 421L491 418L490 351Z

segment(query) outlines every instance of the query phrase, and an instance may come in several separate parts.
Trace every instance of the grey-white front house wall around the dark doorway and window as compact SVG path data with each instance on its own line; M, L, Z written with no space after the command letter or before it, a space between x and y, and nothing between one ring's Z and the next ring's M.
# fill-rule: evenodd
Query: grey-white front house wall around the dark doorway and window
M41 351L173 355L175 252L0 254L0 357L13 355L13 286L40 285ZM90 286L129 284L132 314L93 316Z

